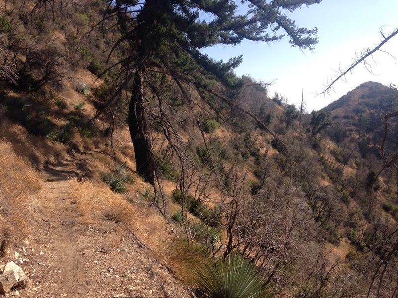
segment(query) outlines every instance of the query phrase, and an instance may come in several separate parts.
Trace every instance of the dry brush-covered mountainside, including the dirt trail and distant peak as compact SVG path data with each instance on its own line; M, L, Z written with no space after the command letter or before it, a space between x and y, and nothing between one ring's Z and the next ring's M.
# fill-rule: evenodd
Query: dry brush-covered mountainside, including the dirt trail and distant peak
M364 83L299 123L249 77L239 89L209 80L218 93L203 94L154 68L148 183L129 132L132 82L116 92L122 70L103 73L126 53L120 28L95 26L106 1L55 2L0 7L18 74L0 80L0 262L26 254L33 287L21 296L200 295L198 269L239 253L275 297L394 297L397 185L393 166L377 173L397 91Z

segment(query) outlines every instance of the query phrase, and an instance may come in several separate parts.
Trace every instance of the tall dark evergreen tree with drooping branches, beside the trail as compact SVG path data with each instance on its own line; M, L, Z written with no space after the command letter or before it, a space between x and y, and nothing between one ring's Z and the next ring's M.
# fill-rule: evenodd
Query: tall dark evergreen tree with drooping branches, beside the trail
M180 100L193 113L191 89L204 103L224 101L233 105L231 94L219 96L217 86L223 85L236 94L242 83L233 73L242 56L228 61L214 61L202 54L203 48L214 45L237 45L244 39L278 41L287 36L292 46L312 49L317 43L317 28L298 28L287 13L302 5L321 0L109 0L104 19L116 20L121 32L114 48L123 48L117 94L131 86L128 114L137 172L154 182L155 161L148 137L148 121L162 127L171 142L173 128L164 112L167 97L159 81L171 82L180 90ZM246 10L243 14L240 11ZM121 79L120 79L121 78ZM215 83L217 82L217 83ZM158 101L154 113L147 106L150 92ZM195 114L195 113L193 113ZM194 115L195 116L195 115ZM197 121L200 127L199 121ZM263 125L267 130L267 127ZM173 148L173 146L172 146Z

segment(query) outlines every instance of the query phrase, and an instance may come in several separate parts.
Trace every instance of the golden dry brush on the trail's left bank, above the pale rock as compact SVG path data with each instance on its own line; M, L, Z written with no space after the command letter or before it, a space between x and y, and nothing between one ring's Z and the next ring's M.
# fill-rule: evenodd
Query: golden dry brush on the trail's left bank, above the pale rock
M37 173L0 141L0 257L28 235L26 223L33 196L40 189Z

